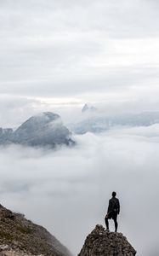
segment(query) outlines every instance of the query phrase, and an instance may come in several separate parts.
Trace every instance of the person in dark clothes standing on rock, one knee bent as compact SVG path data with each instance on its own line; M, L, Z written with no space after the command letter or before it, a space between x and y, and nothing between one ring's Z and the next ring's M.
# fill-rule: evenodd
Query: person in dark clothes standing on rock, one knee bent
M112 192L112 197L109 201L109 206L108 206L108 211L105 216L105 225L106 225L106 230L109 230L109 222L108 219L112 218L114 220L115 224L115 232L117 232L117 214L120 212L120 203L119 200L116 198L116 192Z

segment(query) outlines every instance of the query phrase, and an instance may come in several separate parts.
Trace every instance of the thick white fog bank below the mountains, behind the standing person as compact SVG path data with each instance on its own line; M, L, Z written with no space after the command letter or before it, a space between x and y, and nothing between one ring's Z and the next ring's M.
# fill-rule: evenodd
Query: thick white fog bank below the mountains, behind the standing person
M119 231L139 255L149 256L159 225L158 128L87 133L75 137L75 148L57 151L0 148L1 203L43 224L77 254L94 225L105 225L116 190L122 205Z

